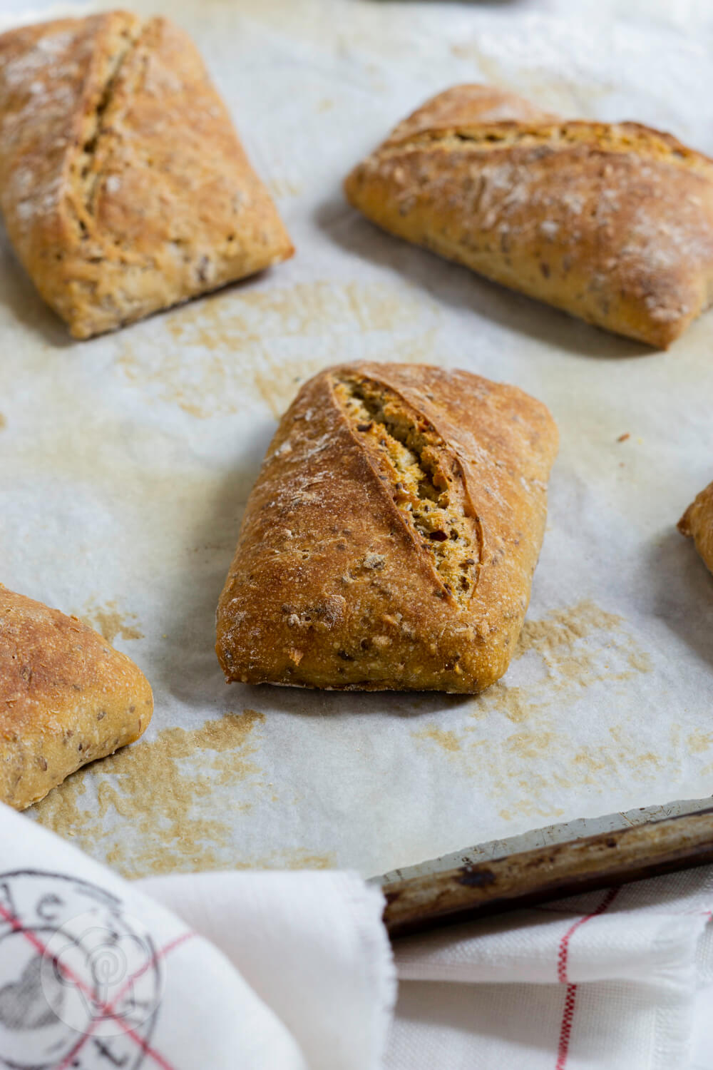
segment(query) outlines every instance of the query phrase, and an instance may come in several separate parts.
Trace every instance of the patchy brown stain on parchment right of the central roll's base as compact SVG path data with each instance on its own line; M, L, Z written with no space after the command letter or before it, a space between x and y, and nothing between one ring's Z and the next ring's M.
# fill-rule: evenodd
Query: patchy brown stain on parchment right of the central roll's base
M622 729L610 730L601 746L576 751L558 731L561 710L576 702L587 687L622 684L650 670L648 654L637 643L623 617L591 600L556 610L538 621L526 621L513 661L526 659L530 682L511 686L499 681L468 704L456 727L428 723L413 733L423 745L436 745L462 771L489 778L489 791L508 798L500 812L515 816L555 820L563 811L553 808L557 797L576 780L596 783L613 774L646 774L656 758ZM479 738L483 719L505 718L515 731L495 748ZM555 761L551 761L555 758ZM561 761L560 761L561 759ZM538 763L543 769L538 771ZM517 791L521 799L513 799ZM546 804L546 805L545 805Z

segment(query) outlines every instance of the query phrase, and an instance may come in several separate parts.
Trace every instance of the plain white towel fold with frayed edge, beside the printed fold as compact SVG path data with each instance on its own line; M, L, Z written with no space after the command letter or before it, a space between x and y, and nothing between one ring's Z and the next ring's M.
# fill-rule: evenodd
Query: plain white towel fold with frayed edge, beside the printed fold
M138 884L237 966L288 1026L310 1070L381 1065L396 990L381 892L328 870L177 874Z

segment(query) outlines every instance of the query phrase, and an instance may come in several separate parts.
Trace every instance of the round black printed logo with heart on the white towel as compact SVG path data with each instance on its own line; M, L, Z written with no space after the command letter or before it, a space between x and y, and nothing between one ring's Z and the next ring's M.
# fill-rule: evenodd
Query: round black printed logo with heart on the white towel
M58 873L0 873L0 1067L137 1070L164 972L115 896Z

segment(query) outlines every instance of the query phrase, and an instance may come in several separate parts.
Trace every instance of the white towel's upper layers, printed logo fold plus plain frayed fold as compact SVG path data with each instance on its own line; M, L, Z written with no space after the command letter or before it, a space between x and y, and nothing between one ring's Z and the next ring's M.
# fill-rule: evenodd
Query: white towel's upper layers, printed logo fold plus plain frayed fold
M345 873L156 885L211 938L0 805L0 1067L381 1066L394 981L378 891Z

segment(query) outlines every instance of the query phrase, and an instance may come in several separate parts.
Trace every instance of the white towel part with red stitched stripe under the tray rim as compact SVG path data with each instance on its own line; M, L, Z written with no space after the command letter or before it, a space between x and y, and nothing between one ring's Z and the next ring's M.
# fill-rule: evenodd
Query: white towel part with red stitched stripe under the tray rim
M704 868L401 941L388 1070L713 1070L712 910Z

